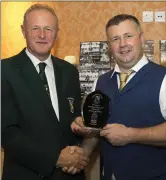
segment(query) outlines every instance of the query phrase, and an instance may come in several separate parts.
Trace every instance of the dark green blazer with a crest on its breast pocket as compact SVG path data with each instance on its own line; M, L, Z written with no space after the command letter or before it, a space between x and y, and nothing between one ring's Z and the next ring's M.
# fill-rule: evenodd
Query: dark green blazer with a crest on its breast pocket
M53 56L52 62L60 122L25 49L2 60L3 180L84 179L83 172L71 176L55 166L64 147L81 143L70 128L81 98L77 69Z

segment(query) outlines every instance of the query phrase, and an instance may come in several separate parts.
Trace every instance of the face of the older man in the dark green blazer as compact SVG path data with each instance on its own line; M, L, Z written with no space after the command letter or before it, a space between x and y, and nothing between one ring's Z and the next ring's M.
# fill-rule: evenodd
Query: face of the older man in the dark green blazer
M27 14L22 33L29 52L39 60L45 60L58 34L58 20L48 10L33 10Z

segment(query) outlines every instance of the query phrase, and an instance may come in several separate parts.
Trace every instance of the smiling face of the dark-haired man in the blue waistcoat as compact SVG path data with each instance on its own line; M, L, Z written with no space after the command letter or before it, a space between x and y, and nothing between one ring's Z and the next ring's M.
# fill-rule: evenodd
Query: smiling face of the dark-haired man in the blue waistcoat
M119 68L132 68L143 56L143 33L131 20L125 20L108 28L109 48Z

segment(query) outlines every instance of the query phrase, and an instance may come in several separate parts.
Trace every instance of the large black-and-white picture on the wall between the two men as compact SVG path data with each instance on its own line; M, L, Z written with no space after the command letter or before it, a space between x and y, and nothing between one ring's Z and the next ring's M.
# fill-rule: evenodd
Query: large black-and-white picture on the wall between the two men
M92 85L99 75L114 67L110 57L106 41L80 43L80 64L77 68L82 98L92 92Z

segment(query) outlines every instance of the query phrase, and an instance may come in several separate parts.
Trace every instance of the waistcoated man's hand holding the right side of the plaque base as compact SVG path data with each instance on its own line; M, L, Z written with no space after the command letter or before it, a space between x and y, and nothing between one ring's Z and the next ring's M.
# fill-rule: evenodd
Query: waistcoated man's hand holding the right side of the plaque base
M122 124L107 124L100 135L105 137L113 146L124 146L131 142L130 128Z

